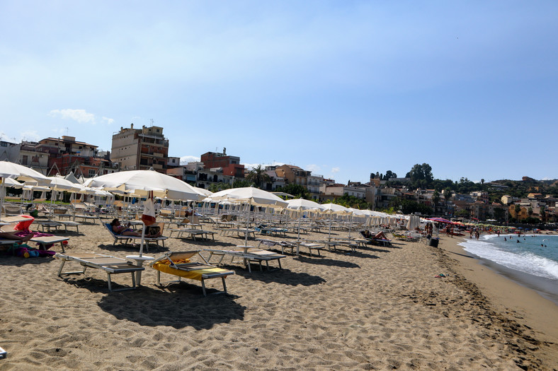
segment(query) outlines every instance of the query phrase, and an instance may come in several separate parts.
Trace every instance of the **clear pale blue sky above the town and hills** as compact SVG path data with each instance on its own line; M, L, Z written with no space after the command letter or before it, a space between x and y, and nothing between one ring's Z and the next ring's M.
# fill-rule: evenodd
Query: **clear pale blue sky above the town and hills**
M0 1L0 137L557 179L558 1Z

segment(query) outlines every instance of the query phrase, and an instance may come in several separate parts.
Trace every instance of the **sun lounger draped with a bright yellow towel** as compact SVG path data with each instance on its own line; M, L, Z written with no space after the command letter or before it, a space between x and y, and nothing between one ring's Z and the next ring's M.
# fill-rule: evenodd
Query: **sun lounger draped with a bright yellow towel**
M190 261L193 257L200 257L203 263ZM167 252L163 254L163 256L152 261L149 265L157 271L157 285L161 285L161 272L178 276L178 281L171 282L181 282L181 278L190 278L201 281L204 296L207 296L207 293L205 293L205 280L210 278L221 278L223 291L219 293L227 293L227 285L224 279L234 274L234 271L227 271L227 269L217 268L209 264L202 254L200 254L199 250L189 252Z

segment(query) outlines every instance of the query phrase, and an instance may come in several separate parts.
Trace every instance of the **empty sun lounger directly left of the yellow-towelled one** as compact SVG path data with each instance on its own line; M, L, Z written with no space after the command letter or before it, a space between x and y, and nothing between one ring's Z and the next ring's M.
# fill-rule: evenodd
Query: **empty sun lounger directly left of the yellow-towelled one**
M57 253L55 258L61 259L62 264L60 264L60 268L58 269L58 276L67 276L70 274L84 274L88 267L95 268L95 269L102 269L106 271L108 276L108 290L109 291L121 291L121 290L132 290L136 288L136 281L135 281L135 272L137 271L144 271L144 267L137 266L135 264L130 263L125 259L120 259L117 257L111 257L110 255L103 255L103 254L94 254L91 252L82 252L76 254L60 254ZM84 267L81 271L72 271L72 272L63 272L62 269L64 268L64 264L66 261L75 261L81 266ZM125 288L118 288L113 290L112 288L112 281L110 280L110 275L112 274L119 274L119 273L132 273L132 286L125 287Z

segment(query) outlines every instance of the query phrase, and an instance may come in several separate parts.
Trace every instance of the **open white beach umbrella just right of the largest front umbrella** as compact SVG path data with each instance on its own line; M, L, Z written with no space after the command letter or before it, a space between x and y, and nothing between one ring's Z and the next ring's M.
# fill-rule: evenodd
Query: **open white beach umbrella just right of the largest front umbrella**
M215 192L210 197L207 197L207 199L212 201L227 200L235 203L249 204L248 218L246 218L246 236L244 239L244 246L248 246L248 227L252 206L275 206L283 208L288 206L285 200L275 196L275 194L255 187L223 189L220 192Z

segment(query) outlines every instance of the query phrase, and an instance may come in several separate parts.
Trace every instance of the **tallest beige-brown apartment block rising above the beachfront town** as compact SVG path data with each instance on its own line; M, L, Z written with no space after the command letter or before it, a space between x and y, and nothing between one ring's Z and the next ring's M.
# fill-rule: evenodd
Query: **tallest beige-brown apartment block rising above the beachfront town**
M169 140L161 126L142 126L134 129L120 127L113 134L110 160L120 164L120 170L149 170L166 172L169 157Z

